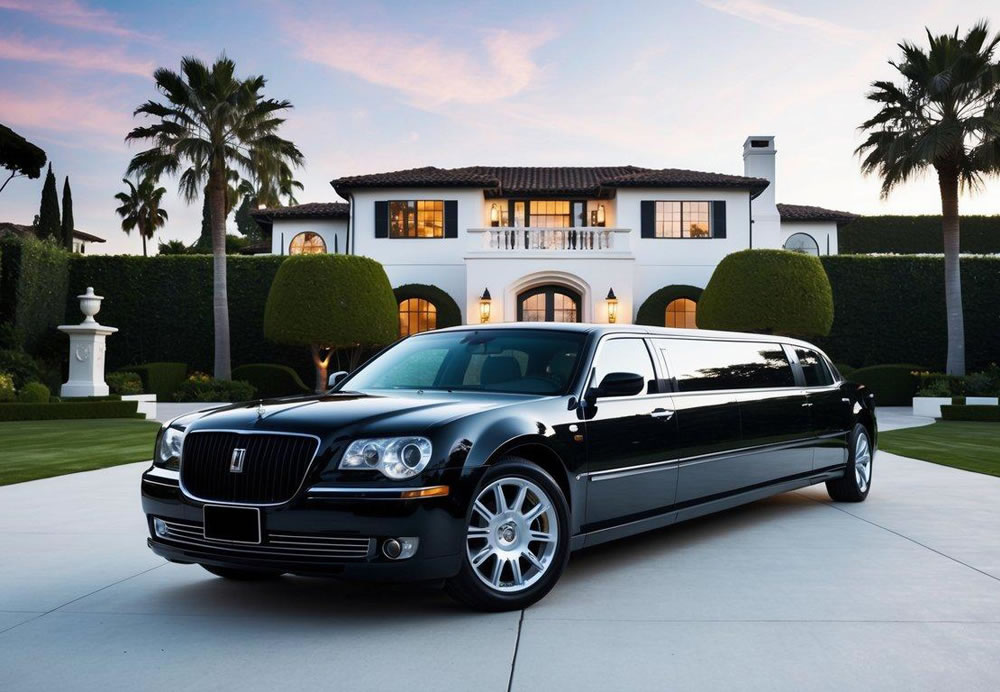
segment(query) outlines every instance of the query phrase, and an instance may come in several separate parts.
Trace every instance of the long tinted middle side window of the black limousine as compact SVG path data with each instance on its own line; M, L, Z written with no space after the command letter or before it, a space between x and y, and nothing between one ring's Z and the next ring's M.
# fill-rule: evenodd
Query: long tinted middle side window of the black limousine
M668 339L664 350L682 392L792 387L795 377L780 344Z

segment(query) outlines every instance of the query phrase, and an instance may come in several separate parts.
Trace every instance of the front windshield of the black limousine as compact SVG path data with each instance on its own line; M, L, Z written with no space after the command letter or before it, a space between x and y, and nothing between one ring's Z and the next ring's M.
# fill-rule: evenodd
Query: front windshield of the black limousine
M564 394L586 334L532 329L428 333L404 339L348 378L343 389Z

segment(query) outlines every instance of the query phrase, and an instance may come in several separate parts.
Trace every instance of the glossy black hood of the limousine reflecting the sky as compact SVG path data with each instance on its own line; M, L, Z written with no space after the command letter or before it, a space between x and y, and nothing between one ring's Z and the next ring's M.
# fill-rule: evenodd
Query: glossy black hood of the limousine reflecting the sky
M424 432L430 426L501 406L536 399L516 394L407 391L393 394L334 392L319 396L233 404L183 421L189 430L259 430L367 435Z

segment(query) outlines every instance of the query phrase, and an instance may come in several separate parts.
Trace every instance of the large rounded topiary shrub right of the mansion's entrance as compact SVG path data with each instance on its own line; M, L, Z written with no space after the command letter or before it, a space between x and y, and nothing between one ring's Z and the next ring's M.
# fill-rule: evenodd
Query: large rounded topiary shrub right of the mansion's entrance
M715 268L698 302L704 329L813 337L830 333L833 294L819 260L787 250L741 250Z

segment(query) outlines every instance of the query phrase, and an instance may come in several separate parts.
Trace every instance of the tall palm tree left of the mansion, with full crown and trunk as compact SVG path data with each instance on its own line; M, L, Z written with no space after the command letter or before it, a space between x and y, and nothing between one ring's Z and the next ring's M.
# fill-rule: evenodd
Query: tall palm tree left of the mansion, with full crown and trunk
M229 301L226 294L226 214L233 173L253 176L265 163L302 164L302 153L277 131L284 122L278 114L291 108L288 101L264 98L261 76L239 79L236 65L224 55L209 68L197 58L181 60L180 73L160 68L153 73L156 88L166 101L147 101L135 110L157 119L136 127L127 140L149 140L152 148L136 154L129 171L159 177L180 174L180 192L192 202L202 190L212 221L213 308L215 321L215 376L228 380Z

